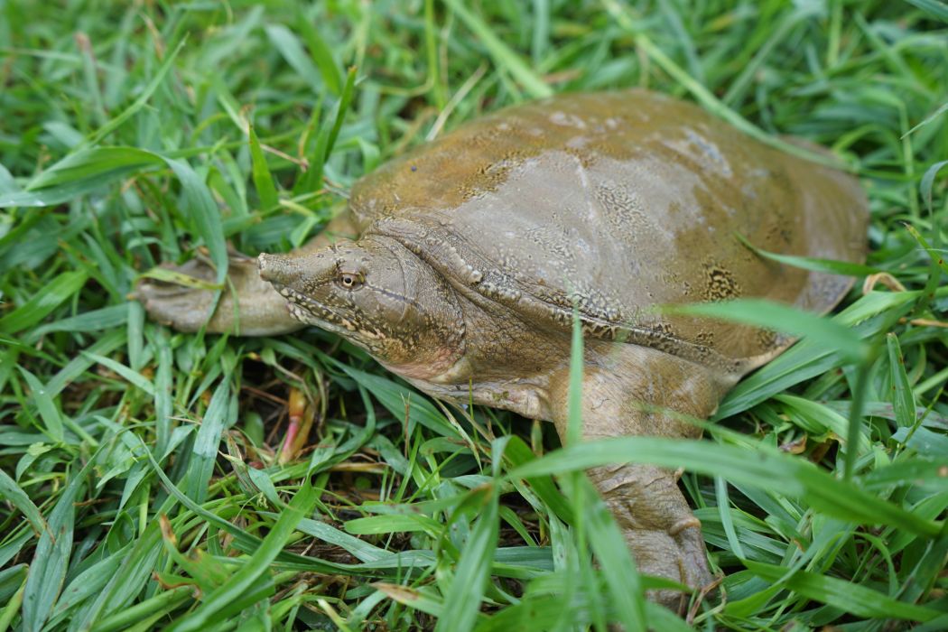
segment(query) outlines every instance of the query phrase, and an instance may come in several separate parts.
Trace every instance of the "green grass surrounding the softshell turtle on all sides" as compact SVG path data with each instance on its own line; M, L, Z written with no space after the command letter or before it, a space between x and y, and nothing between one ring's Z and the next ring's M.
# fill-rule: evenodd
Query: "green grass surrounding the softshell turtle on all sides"
M724 578L695 626L945 629L946 13L0 0L0 631L683 629L578 474L617 458L688 468ZM631 85L830 147L888 275L832 322L775 314L811 337L702 442L539 458L552 428L431 402L329 334L176 334L127 299L199 247L301 244L432 132ZM290 400L319 427L282 454Z

